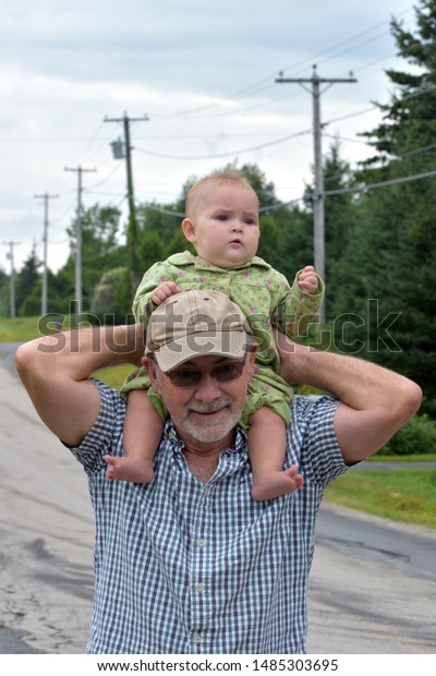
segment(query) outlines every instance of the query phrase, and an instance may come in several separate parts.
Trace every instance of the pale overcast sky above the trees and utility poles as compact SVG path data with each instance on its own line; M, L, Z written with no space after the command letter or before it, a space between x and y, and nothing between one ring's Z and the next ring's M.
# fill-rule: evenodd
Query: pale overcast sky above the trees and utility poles
M282 201L301 197L313 164L312 95L323 89L323 150L335 136L343 159L371 154L359 137L389 100L385 70L398 60L389 22L415 25L409 0L0 0L0 266L20 269L34 243L48 265L68 255L65 228L77 205L126 209L125 162L110 143L131 124L137 202L169 203L191 176L238 159L255 162ZM145 120L144 118L148 118Z

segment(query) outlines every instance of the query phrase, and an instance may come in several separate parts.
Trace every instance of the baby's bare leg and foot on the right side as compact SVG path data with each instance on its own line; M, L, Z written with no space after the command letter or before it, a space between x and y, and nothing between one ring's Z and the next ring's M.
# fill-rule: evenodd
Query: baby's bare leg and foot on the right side
M283 470L286 425L280 415L263 407L250 417L249 452L253 469L252 496L269 500L303 485L299 468Z

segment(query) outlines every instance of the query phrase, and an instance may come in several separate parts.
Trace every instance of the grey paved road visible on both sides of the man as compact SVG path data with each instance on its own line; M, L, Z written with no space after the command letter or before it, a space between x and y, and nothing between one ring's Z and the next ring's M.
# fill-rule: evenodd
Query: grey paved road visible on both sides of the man
M83 653L94 530L83 471L2 367L0 423L0 653ZM325 504L308 651L436 653L435 552L435 531Z

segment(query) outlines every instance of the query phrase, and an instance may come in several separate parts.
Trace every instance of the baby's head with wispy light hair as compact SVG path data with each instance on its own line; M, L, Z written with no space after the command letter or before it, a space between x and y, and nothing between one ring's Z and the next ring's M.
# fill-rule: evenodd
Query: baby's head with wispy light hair
M182 228L198 256L218 267L245 265L257 251L258 198L241 171L222 169L190 189Z

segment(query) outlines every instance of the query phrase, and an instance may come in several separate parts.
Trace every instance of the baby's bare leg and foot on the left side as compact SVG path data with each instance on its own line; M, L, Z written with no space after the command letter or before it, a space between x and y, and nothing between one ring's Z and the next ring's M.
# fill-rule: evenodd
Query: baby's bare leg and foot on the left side
M148 483L155 473L153 460L160 443L162 421L147 397L146 389L133 389L129 394L124 420L125 456L105 456L108 463L108 481Z

